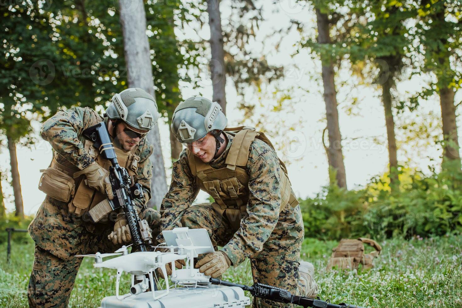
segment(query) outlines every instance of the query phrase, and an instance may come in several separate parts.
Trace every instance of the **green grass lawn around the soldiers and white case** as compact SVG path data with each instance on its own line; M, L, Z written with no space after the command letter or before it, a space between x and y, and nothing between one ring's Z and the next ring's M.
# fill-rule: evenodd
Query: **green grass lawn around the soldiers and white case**
M337 242L305 239L302 259L315 265L321 299L364 307L462 308L462 235L395 238L381 244L383 253L374 260L373 269L327 272L327 260ZM0 307L27 307L33 243L13 243L9 264L6 243L0 248ZM228 270L223 279L251 285L249 261ZM91 259L84 260L69 306L99 307L103 296L113 295L114 282L115 271L94 269Z

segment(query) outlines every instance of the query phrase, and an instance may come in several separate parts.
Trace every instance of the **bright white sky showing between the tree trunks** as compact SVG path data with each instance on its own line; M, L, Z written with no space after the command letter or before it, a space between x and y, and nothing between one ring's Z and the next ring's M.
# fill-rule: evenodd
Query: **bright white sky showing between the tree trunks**
M325 105L322 98L320 61L311 56L306 49L291 56L297 51L294 44L300 39L298 32L292 30L288 35L284 35L279 51L274 48L279 41L279 35L274 34L274 30L286 27L291 19L303 22L306 33L310 31L311 34L315 33L315 15L308 8L302 9L297 6L295 2L295 0L284 0L270 5L268 1L268 6L263 12L265 21L257 32L257 41L250 42L249 49L254 55L265 54L270 65L284 65L285 77L272 85L263 85L262 93L255 93L249 88L244 98L237 97L232 80L228 79L226 109L230 127L252 126L252 121L264 119L265 128L272 133L268 137L277 145L278 153L288 165L289 178L296 195L306 198L314 196L322 186L328 184L327 156L321 140L322 130L326 126ZM227 3L228 1L222 1L220 6L223 23L227 23L226 18L230 16L230 11L226 9ZM279 12L274 12L275 8L279 9ZM193 33L193 31L190 33L187 31L186 35L195 35ZM199 31L199 35L203 39L209 38L207 24ZM263 39L265 39L264 44L261 43ZM204 69L195 74L203 78L200 83L202 89L192 89L190 85L181 83L183 98L193 95L212 98L209 72ZM348 189L354 189L367 184L372 176L382 175L388 170L387 137L383 106L380 100L381 90L377 90L377 86L358 85L359 81L356 77L352 77L347 63L340 69L335 81L338 91L340 132L344 139L342 145L347 186ZM419 91L425 84L425 80L418 77L400 81L395 94L404 99L406 92ZM272 93L282 91L289 91L292 99L284 102L280 111L271 111L276 104ZM261 99L258 99L259 95L262 96ZM106 99L109 100L110 97ZM244 123L241 122L243 111L237 109L237 104L243 99L256 104L254 115ZM462 92L458 91L455 102L461 99ZM356 103L352 107L353 100L356 100ZM432 137L441 134L440 112L439 98L433 96L421 103L415 112L407 111L399 115L395 113L398 163L423 171L427 170L428 165L441 163L439 158L442 154L441 147L434 144ZM161 146L168 176L167 183L170 184L169 127L163 120L159 119ZM460 118L458 120L458 127L461 127ZM34 126L38 131L40 123L34 123ZM415 130L418 127L426 127L429 135L419 134L422 137L417 138L418 134ZM462 133L459 133L459 136L462 136ZM462 145L462 140L459 140L459 144ZM32 149L18 146L17 150L24 213L26 215L35 214L45 197L37 188L41 175L39 170L48 167L51 160L51 146L39 139ZM2 173L9 171L9 160L8 151L3 147L0 152ZM6 197L6 209L13 211L12 187L8 183L11 176L8 175L8 177L2 181L2 187ZM201 193L199 198L203 200L206 197L205 193Z

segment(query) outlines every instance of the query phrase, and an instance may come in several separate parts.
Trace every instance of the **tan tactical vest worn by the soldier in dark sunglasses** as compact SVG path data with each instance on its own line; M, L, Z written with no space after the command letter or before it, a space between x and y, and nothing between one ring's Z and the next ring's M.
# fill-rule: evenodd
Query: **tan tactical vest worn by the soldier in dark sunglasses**
M85 151L90 154L91 158L93 158L98 165L106 170L109 170L111 163L109 160L104 159L99 155L99 151L93 147L93 142L90 140L85 140L84 147ZM136 148L133 151L126 152L115 148L119 165L127 169L128 175L130 176L134 176L136 174L138 163L140 162L140 157L134 154L135 150ZM73 174L79 171L79 169L77 169L71 163L61 164L58 163L55 158L53 158L49 169L50 168L61 171L68 177L73 177ZM55 170L53 171L55 172ZM107 196L105 194L89 187L86 183L85 175L81 175L75 178L75 186L73 188L73 192L71 193L70 200L68 201L68 209L70 213L74 213L80 217L86 211L91 210L95 205L106 198Z

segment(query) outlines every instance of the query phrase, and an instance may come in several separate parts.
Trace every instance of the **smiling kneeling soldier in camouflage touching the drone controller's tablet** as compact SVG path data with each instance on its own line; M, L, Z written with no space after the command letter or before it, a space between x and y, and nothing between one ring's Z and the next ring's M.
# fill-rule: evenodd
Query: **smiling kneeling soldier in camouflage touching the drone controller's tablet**
M223 248L197 263L206 275L219 277L249 258L254 282L316 296L314 267L300 261L304 225L286 166L263 133L225 129L226 124L219 104L204 97L190 97L175 109L171 129L186 149L173 163L161 229L208 230L214 248ZM215 202L192 205L200 189ZM254 307L281 305L253 302Z

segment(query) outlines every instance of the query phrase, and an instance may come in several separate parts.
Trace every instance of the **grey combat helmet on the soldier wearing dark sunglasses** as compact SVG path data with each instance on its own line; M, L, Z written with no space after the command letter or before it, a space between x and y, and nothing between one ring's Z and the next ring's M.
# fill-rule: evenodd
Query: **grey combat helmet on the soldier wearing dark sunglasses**
M114 94L106 115L140 130L151 130L159 118L156 100L140 88L128 88Z

